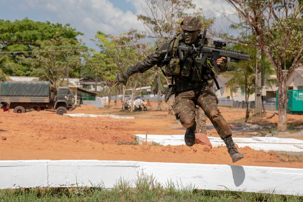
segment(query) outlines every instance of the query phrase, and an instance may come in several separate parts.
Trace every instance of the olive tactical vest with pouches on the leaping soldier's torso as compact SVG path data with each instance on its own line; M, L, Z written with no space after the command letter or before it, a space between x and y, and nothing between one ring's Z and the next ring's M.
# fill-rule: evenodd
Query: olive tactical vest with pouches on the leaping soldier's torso
M207 39L205 43L207 45ZM202 40L199 39L199 45L201 44L202 44ZM208 80L214 79L217 88L219 90L220 87L218 85L217 80L215 79L215 73L211 70L212 68L211 64L207 63L205 66L202 66L202 64L200 63L201 57L199 56L199 54L197 55L185 54L183 56L184 60L181 61L179 58L179 53L177 51L179 45L186 46L185 42L183 41L182 34L175 35L168 43L168 48L166 51L164 61L161 61L162 65L158 65L158 67L165 65L165 71L161 68L163 75L165 77L171 77L172 84L174 80L174 75L181 75L183 78L190 78L192 82L198 82L198 81L207 82ZM159 48L160 49L159 51L161 51L162 47L163 46ZM184 83L184 86L188 86L188 85L185 85Z

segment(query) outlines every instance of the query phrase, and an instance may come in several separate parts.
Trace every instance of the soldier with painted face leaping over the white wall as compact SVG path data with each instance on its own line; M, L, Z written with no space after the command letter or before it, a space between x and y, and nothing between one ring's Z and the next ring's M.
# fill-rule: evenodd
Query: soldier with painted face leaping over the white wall
M155 52L148 55L147 58L130 66L126 71L119 73L115 78L114 86L123 84L123 87L126 88L129 76L138 72L143 73L155 65L160 66L166 62L165 65L170 67L170 73L173 75L173 81L175 81L175 84L171 85L168 89L170 96L171 94L175 94L173 110L176 118L187 128L184 137L185 144L189 147L195 144L195 105L198 105L203 109L205 115L216 128L219 136L225 142L232 162L235 163L244 158L244 156L235 147L228 124L218 109L218 98L208 87L207 79L203 76L209 72L199 75L201 71L196 71L197 68L201 68L199 66L201 63L197 62L200 55L194 55L194 53L188 51L184 56L186 60L182 61L177 50L179 45L188 47L194 45L198 47L204 44L202 35L200 35L202 23L199 18L188 16L181 22L180 28L183 31L183 34L180 34L181 36L176 35L170 42L163 43ZM178 40L177 46L174 45L176 40ZM166 61L170 51L172 53L170 54L171 57ZM210 59L209 62L211 63L213 60ZM220 69L219 72L227 71L227 58L221 57L215 62ZM205 71L207 67L209 66L203 66L202 71ZM169 75L169 72L167 72L167 75ZM165 98L165 100L167 99Z

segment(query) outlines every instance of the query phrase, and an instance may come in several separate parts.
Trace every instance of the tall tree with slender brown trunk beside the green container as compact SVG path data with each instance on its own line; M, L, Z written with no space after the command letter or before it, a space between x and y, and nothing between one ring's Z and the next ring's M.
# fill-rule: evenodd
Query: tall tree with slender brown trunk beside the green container
M278 79L278 131L287 131L286 78L303 62L303 2L290 0L226 0L239 17L230 28L237 29L238 37L228 33L220 36L227 41L261 48L275 68ZM248 34L247 34L248 33ZM253 35L255 41L242 40ZM284 74L283 63L292 61ZM286 70L286 65L284 65Z

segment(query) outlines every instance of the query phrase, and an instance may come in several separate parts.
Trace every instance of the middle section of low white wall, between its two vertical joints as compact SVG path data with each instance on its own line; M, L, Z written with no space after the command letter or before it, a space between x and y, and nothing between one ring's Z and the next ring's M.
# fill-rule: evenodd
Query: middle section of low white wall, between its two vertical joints
M138 162L61 160L48 162L48 187L111 188L120 179L132 182L138 172Z

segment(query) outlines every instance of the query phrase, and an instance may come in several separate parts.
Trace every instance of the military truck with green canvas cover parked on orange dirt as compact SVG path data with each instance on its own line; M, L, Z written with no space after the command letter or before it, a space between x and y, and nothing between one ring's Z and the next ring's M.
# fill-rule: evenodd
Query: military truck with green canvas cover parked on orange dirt
M72 91L67 87L53 90L49 81L4 81L0 85L0 108L14 109L14 113L49 110L63 115L76 108Z

